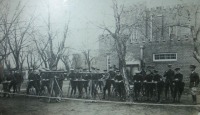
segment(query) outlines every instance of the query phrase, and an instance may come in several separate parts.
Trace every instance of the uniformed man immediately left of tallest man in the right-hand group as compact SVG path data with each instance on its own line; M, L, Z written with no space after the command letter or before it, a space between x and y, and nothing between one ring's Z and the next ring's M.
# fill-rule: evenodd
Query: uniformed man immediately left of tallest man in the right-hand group
M157 70L154 70L153 81L157 84L153 84L153 89L157 91L157 102L160 102L160 95L163 91L164 82L162 80L162 76L158 74Z

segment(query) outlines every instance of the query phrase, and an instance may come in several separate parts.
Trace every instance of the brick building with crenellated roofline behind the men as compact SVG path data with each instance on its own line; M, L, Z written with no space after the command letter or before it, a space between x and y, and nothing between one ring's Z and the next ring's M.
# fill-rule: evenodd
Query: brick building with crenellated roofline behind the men
M184 80L188 80L190 64L199 66L193 57L190 30L175 26L188 21L177 13L177 7L180 6L145 10L143 23L134 28L127 42L126 65L129 75L134 75L135 70L141 69L141 60L145 67L153 66L161 75L167 69L167 64L172 64L173 68L180 67ZM109 69L113 65L118 67L111 36L102 35L99 39L99 68ZM198 67L197 69L200 70Z

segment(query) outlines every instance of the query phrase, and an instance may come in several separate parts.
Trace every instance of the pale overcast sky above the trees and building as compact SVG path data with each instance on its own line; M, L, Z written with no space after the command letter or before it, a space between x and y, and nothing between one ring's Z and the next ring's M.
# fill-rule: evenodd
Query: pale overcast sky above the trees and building
M16 4L18 0L11 0ZM25 1L25 0L22 0ZM103 33L97 25L105 23L113 27L114 18L112 0L27 0L24 17L37 16L37 24L42 25L47 20L47 3L50 3L51 22L54 30L62 33L64 23L70 20L67 45L80 49L97 49L98 36ZM170 6L181 2L198 0L118 0L125 7L143 3L147 7Z

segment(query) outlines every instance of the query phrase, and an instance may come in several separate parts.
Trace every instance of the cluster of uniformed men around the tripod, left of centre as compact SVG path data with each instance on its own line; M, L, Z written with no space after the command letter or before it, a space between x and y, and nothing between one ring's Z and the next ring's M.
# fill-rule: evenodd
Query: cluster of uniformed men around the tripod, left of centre
M44 95L45 93L52 95L52 91L54 91L55 96L58 96L62 92L64 79L64 72L30 71L26 93L30 94L30 89L34 88L36 95Z

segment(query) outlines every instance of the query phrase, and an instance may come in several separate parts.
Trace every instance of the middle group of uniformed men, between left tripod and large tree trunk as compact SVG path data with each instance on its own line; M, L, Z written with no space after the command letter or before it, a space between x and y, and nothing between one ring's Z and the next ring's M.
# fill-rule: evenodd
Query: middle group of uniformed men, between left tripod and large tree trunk
M121 99L124 94L123 77L119 70L104 70L103 73L100 73L99 70L95 72L75 72L71 69L68 79L70 79L70 96L76 95L76 89L78 89L78 97L82 97L84 89L86 95L94 98L98 92L103 92L103 99L105 99L106 91L108 91L108 96L111 96L111 86L115 88L116 95Z

